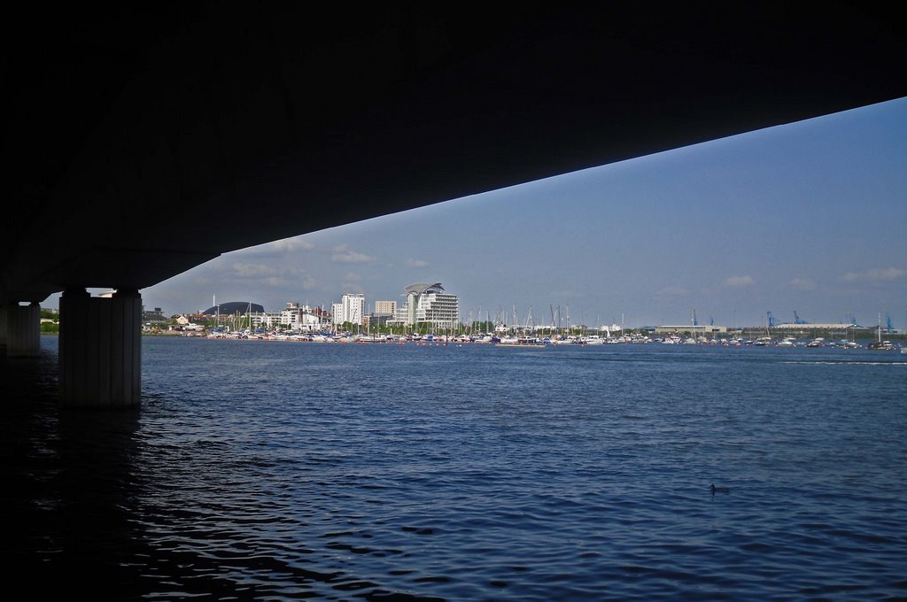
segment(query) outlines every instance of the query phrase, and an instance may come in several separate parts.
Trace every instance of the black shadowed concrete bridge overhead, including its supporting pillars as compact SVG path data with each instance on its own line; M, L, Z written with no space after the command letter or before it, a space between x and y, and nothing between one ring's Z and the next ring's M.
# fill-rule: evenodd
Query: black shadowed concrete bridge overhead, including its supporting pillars
M881 4L637 6L7 14L0 343L62 291L63 403L133 405L141 289L221 253L907 95Z

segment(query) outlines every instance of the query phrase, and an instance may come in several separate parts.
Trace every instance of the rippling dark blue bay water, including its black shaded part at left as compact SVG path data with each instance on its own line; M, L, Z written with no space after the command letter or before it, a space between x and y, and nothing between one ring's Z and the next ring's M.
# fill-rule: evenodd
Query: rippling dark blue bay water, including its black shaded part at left
M902 354L154 337L141 411L85 413L43 344L2 389L34 596L907 597Z

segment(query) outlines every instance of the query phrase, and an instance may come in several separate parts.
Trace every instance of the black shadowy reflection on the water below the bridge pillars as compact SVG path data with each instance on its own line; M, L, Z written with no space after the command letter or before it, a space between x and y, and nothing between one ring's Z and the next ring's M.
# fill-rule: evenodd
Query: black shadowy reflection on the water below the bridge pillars
M5 565L35 596L136 597L138 412L63 410L56 355L0 363Z

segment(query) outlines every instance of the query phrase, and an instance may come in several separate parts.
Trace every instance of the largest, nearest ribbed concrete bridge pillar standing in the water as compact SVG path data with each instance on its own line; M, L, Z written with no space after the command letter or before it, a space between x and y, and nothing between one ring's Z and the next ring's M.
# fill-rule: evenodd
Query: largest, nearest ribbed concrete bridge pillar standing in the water
M141 402L141 295L118 289L60 297L60 400L63 406L118 408Z

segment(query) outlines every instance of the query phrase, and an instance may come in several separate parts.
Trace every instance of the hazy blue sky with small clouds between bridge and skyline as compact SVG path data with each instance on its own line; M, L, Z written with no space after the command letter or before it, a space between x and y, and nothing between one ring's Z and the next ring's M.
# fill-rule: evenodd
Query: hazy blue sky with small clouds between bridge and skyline
M454 199L225 254L141 291L188 313L401 299L463 319L907 327L907 99Z

